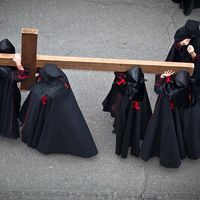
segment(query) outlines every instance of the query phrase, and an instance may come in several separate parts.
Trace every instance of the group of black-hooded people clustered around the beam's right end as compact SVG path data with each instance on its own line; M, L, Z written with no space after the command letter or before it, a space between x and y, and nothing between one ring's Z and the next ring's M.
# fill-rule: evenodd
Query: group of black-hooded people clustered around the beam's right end
M166 61L193 62L192 76L185 70L155 76L157 101L152 113L140 67L115 72L103 101L103 110L114 117L116 154L130 154L177 168L185 157L200 158L200 22L188 20L175 33Z

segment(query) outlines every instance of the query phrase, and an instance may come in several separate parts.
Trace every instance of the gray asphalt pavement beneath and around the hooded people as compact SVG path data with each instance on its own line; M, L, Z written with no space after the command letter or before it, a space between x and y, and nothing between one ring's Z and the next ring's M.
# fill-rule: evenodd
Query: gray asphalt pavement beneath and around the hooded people
M20 51L22 27L39 29L38 53L164 60L175 30L189 17L171 0L1 0L1 39ZM114 154L113 119L101 102L112 72L65 70L99 150L90 159L42 155L20 140L0 137L0 200L200 199L200 160L166 169ZM152 106L154 76L146 74ZM23 92L23 98L27 93Z

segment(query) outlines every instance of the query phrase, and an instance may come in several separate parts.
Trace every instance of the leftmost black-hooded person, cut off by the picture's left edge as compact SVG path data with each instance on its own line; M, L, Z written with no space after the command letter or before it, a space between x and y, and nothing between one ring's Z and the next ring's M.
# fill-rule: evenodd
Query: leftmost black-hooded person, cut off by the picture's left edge
M0 41L0 53L15 53L15 47L8 39ZM21 94L17 83L28 77L24 70L16 67L0 67L0 135L18 138L18 115Z

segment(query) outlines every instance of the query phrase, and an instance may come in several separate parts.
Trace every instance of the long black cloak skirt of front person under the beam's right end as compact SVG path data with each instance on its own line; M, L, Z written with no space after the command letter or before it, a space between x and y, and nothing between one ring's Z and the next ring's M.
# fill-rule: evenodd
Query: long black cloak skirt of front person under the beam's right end
M170 111L170 102L165 97L159 98L156 105L142 143L141 158L147 161L158 156L161 165L176 168L181 164L181 152L176 136L182 135L178 111Z

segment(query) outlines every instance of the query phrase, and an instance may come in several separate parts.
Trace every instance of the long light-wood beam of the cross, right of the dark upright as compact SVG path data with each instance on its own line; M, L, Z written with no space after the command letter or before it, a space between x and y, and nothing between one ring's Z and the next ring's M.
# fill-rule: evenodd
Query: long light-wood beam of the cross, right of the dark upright
M163 73L166 69L179 71L185 69L189 72L193 70L193 63L182 62L161 62L128 59L106 59L106 58L86 58L86 57L66 57L66 56L37 56L37 66L42 67L47 63L53 63L63 69L82 69L100 71L125 72L133 66L140 66L144 73Z

